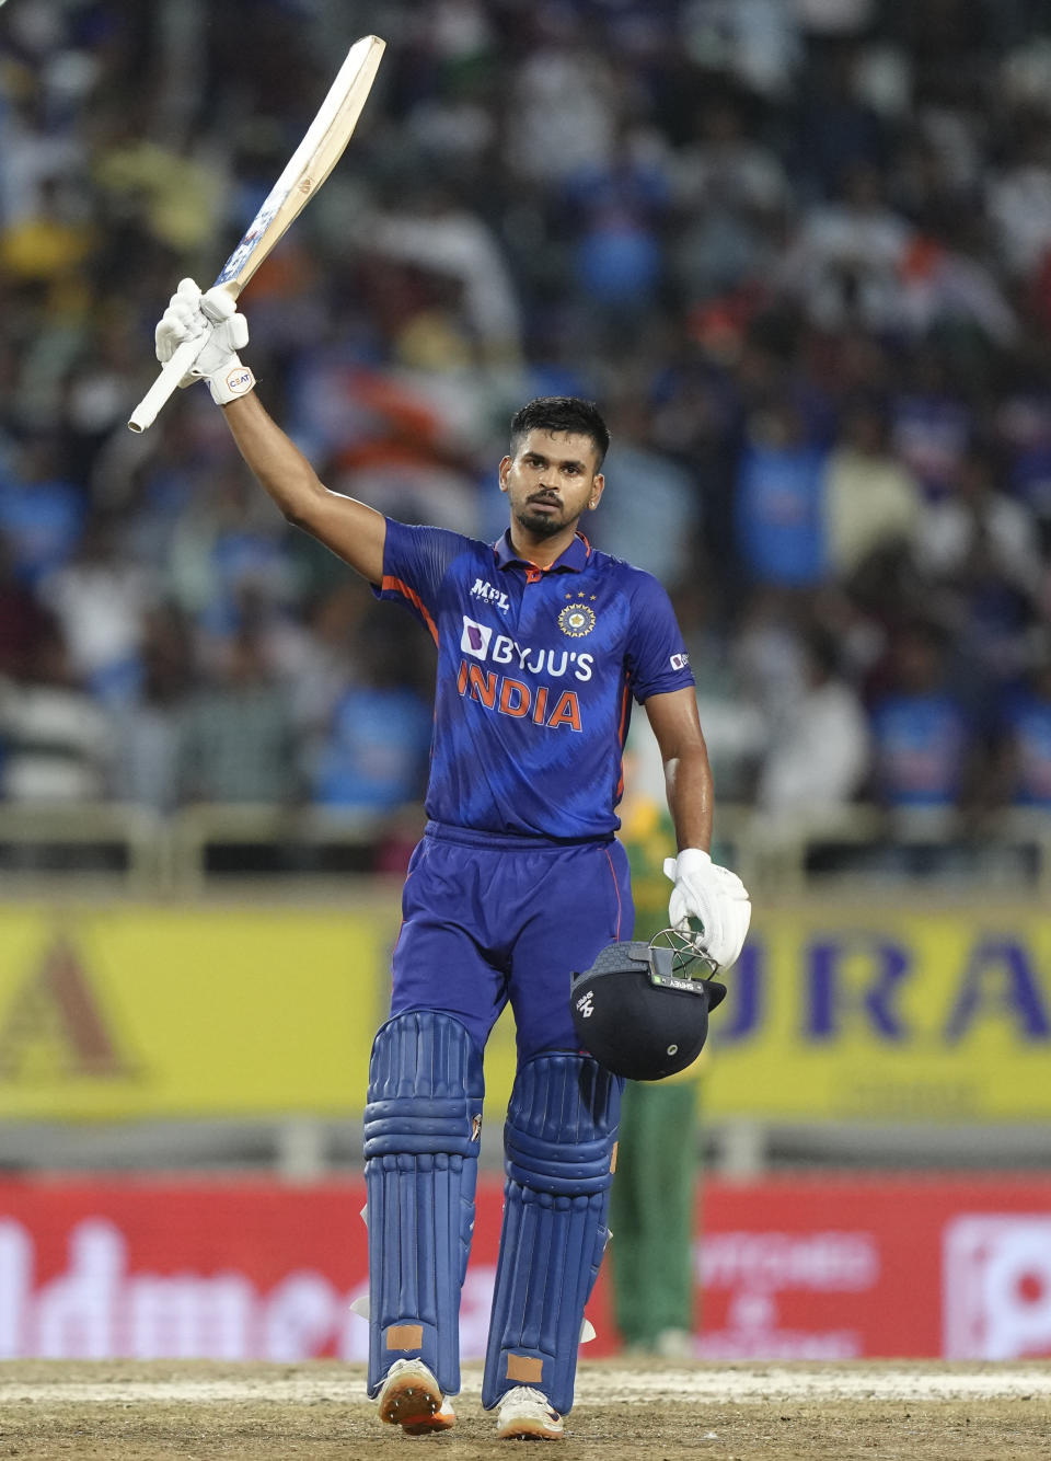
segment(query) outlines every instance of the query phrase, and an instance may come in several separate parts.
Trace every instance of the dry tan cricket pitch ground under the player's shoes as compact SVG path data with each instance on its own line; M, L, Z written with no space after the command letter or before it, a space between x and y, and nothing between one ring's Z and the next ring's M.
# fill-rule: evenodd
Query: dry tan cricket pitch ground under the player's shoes
M457 1427L377 1420L361 1365L9 1360L0 1458L19 1461L476 1461L518 1455L464 1366ZM543 1446L543 1442L540 1443ZM536 1452L528 1443L528 1454ZM1051 1363L581 1362L561 1461L1048 1461Z

